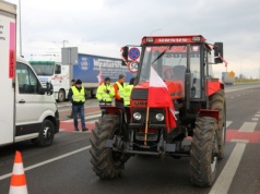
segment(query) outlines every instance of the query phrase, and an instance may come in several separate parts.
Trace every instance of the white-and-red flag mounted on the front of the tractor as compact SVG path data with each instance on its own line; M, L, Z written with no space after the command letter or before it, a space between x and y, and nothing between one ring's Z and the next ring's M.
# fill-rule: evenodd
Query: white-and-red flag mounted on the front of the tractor
M147 107L168 107L170 112L170 126L176 126L174 105L169 96L168 87L153 68L151 68L150 73Z

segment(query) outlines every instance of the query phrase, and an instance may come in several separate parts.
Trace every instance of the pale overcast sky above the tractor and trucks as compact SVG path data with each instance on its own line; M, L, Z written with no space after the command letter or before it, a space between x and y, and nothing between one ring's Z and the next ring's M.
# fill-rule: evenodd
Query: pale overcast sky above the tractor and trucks
M7 0L19 3L19 0ZM203 35L223 41L227 71L260 76L259 0L21 0L22 52L79 52L120 58L146 35ZM226 71L224 64L216 72Z

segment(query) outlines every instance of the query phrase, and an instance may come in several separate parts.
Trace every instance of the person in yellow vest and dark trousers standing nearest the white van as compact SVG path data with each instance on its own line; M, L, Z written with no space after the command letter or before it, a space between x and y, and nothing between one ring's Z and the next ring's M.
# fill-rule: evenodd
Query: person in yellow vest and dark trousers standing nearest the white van
M81 118L81 126L82 131L85 132L88 129L85 126L85 111L84 111L84 104L86 101L86 93L85 88L82 87L81 80L75 81L75 85L72 86L69 90L68 95L70 101L72 102L73 107L73 118L74 118L74 131L79 131L78 128L78 113Z

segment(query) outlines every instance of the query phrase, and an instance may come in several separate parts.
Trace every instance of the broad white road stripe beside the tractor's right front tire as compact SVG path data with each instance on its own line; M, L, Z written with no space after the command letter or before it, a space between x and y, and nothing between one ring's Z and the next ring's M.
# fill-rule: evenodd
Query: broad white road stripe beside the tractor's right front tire
M229 159L227 160L224 169L222 170L209 194L226 194L228 192L233 178L241 160L246 145L247 144L245 143L236 144Z

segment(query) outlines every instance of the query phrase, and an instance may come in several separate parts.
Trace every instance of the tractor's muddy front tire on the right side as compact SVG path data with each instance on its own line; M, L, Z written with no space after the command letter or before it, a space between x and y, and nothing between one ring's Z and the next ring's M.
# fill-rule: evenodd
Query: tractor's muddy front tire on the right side
M216 178L217 124L211 117L198 118L191 142L191 182L197 186L211 186Z

